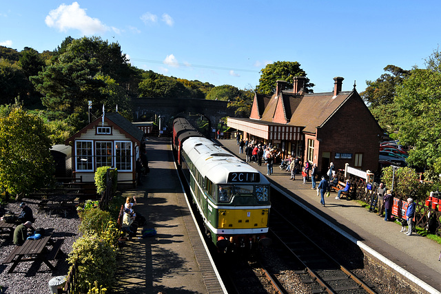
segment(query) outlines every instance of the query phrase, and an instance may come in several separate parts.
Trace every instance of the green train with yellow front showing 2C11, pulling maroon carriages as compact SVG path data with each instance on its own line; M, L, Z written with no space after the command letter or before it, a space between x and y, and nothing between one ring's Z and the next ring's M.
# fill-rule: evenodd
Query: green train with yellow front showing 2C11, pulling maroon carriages
M205 233L218 249L226 252L269 244L267 178L205 138L185 118L174 120L172 140Z

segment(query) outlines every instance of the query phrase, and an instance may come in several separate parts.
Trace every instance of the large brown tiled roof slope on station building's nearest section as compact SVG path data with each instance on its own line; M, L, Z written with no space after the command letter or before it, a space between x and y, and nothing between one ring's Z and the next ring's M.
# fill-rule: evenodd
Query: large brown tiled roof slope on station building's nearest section
M289 125L304 125L303 132L315 133L337 109L341 107L354 91L345 91L334 96L333 92L305 94L291 116Z

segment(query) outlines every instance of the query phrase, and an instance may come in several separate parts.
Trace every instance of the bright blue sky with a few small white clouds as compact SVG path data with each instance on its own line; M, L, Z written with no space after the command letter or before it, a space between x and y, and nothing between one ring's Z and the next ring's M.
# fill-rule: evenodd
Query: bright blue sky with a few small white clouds
M440 1L1 1L0 45L54 50L66 36L118 41L132 65L167 76L258 85L298 61L314 92L358 92L392 64L424 68L440 43Z

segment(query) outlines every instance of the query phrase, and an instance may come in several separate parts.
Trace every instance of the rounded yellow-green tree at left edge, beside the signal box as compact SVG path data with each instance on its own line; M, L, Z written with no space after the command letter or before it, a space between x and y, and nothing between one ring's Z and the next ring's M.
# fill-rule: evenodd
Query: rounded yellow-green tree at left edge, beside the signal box
M21 198L48 184L54 172L43 120L13 107L0 117L0 189Z

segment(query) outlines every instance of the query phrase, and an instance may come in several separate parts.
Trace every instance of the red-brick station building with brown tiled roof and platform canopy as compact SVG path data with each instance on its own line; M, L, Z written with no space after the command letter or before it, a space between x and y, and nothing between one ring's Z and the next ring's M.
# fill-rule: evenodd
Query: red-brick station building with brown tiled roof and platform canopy
M270 143L284 156L316 163L323 174L334 162L362 170L378 169L378 143L383 131L356 91L342 91L344 78L334 78L334 91L306 93L305 77L294 77L292 89L277 81L271 96L254 95L249 118L227 119L243 138Z

